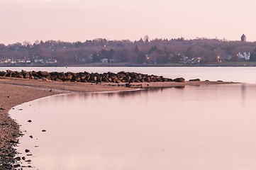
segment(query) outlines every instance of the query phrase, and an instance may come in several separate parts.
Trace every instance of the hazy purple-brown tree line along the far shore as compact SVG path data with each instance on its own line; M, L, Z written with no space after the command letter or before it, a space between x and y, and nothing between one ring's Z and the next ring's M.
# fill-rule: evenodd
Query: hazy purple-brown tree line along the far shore
M226 41L198 38L184 40L154 39L137 41L106 40L99 38L85 42L36 40L0 44L0 60L57 60L58 64L87 64L106 59L111 63L168 64L182 62L184 58L200 58L201 63L238 62L238 52L250 52L250 61L256 61L256 42Z

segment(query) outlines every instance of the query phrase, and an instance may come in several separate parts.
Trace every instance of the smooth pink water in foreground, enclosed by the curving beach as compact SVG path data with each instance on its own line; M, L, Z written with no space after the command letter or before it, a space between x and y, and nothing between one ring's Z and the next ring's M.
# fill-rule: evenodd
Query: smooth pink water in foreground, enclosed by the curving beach
M248 170L255 99L255 84L186 86L51 96L10 114L36 169Z

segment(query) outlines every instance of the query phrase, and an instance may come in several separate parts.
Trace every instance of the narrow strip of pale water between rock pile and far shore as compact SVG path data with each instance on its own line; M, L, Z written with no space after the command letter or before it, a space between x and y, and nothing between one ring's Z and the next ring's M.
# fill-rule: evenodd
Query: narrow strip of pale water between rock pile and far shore
M168 78L223 80L256 83L256 67L0 67L0 70L48 72L140 72Z

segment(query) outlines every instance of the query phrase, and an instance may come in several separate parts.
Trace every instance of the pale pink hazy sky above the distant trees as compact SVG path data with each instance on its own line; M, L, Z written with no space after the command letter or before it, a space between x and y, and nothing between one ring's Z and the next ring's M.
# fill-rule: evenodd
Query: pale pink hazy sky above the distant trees
M255 0L0 0L0 43L106 38L256 41Z

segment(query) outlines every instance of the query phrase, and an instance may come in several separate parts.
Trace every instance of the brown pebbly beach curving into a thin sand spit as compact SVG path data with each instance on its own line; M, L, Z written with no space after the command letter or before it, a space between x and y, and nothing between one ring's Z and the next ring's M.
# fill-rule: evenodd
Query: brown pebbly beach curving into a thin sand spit
M126 84L116 83L78 83L56 82L33 79L17 79L1 77L0 79L0 169L13 169L17 166L16 149L18 137L21 136L19 126L10 116L9 111L14 107L38 98L71 92L110 92L130 91L135 89L168 88L184 86L200 86L211 84L235 84L223 81L185 81L179 82L150 82Z

